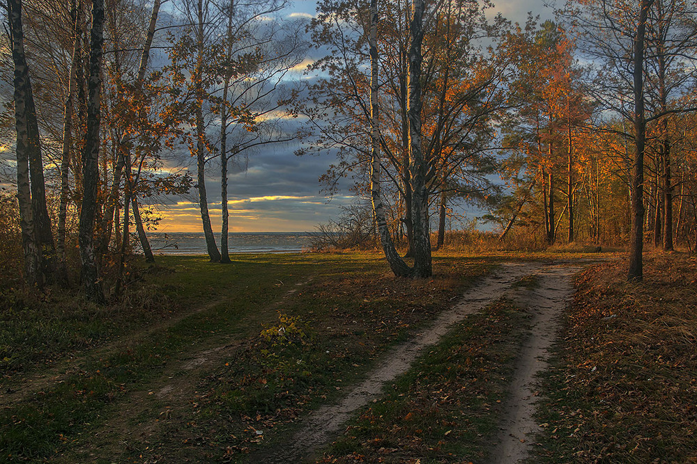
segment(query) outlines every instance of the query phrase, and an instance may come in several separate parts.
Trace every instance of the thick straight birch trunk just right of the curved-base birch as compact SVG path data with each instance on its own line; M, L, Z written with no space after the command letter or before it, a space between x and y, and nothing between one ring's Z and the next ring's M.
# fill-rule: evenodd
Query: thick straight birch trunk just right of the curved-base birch
M426 185L428 162L424 158L421 132L421 46L424 38L424 0L414 0L409 22L409 151L411 153L412 222L414 227L414 277L431 277L431 234L429 194Z

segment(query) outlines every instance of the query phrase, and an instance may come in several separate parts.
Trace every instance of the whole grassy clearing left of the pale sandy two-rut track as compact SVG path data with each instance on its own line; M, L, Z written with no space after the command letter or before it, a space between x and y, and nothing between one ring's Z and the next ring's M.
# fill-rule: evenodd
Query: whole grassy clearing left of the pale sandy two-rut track
M164 307L143 310L134 299L132 306L95 308L94 336L82 345L49 337L82 330L82 307L70 310L66 296L43 296L45 304L24 305L8 317L15 327L43 319L46 330L37 329L34 342L23 342L17 330L1 335L3 344L24 343L31 355L6 371L17 392L0 413L0 460L234 461L263 445L255 429L293 422L340 394L493 261L438 257L433 280L411 281L392 278L376 254L248 255L236 256L231 266L162 258L161 267L141 271L140 288ZM169 404L148 396L163 378L184 383L181 360L216 346L229 347L227 358L217 358L187 397ZM54 365L42 365L49 361ZM24 394L32 385L22 385L22 378L32 363L39 364L34 374L51 378ZM130 403L137 413L118 419ZM123 428L115 432L122 435L151 432L129 437L128 446L112 442L113 449L96 451L103 443L95 435L114 428ZM88 458L89 451L95 453Z

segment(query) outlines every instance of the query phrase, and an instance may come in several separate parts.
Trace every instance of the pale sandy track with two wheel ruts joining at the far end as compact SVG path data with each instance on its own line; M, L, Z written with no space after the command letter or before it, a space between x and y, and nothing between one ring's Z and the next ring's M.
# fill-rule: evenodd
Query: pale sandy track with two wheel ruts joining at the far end
M532 402L521 403L521 408L516 408L515 405L517 401L521 401L521 398L531 396L529 379L532 379L539 370L537 367L542 366L542 363L537 363L537 356L544 352L545 347L549 346L555 337L552 328L556 324L556 314L560 313L570 295L569 281L576 271L578 268L542 263L503 264L498 271L482 280L479 285L469 289L454 307L442 312L430 328L382 355L378 365L367 374L367 379L355 385L338 403L323 406L309 415L303 421L300 431L290 440L291 445L286 446L283 451L275 449L272 451L273 455L259 456L259 460L266 463L288 463L309 458L318 447L329 442L355 410L376 399L383 391L385 384L404 374L425 347L438 342L455 323L463 321L469 314L482 310L507 293L512 293L511 286L514 282L526 275L538 274L542 277L540 279L542 286L535 290L530 298L533 301L526 302L535 303L533 321L535 328L533 328L530 343L526 344L524 353L521 353L516 365L514 392L512 392L510 406L505 408L505 424L501 432L503 438L511 438L510 435L527 436L528 431L535 428L532 422L534 405ZM535 343L537 340L544 340L544 343L541 342L542 345L538 346ZM514 429L514 426L517 428ZM497 456L498 454L514 456L516 453L523 456L524 451L512 444L513 438L511 440L503 438L501 438L500 447L497 447L495 451ZM515 440L519 441L520 438ZM526 439L523 438L523 440ZM496 462L514 461L507 461L504 458L503 461Z

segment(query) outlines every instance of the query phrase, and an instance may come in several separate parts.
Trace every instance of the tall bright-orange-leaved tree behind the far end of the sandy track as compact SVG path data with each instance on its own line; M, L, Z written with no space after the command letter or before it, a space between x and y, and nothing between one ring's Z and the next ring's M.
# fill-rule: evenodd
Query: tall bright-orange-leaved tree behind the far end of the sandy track
M580 86L581 69L574 64L574 43L556 23L539 28L530 19L526 28L509 35L507 47L520 57L517 79L512 83L517 111L507 121L507 143L513 148L507 175L518 186L508 214L505 235L526 202L536 199L542 211L547 243L554 243L563 217L568 241L574 241L576 193L579 189L579 152L583 125L592 105ZM565 179L562 181L560 177ZM563 182L563 186L559 184ZM557 214L558 195L566 197ZM565 216L566 215L566 216Z

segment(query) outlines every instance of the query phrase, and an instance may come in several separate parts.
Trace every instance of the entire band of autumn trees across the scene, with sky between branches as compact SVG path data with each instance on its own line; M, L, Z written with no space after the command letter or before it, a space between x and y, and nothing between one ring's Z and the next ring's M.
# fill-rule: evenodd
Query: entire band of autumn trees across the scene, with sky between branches
M155 259L166 196L199 203L230 262L229 163L290 141L336 157L321 181L369 200L395 275L431 275L463 202L501 241L627 245L629 280L646 242L697 248L687 1L570 1L523 25L475 0L322 0L312 19L284 0L4 6L2 271L30 285L118 297L131 242Z

